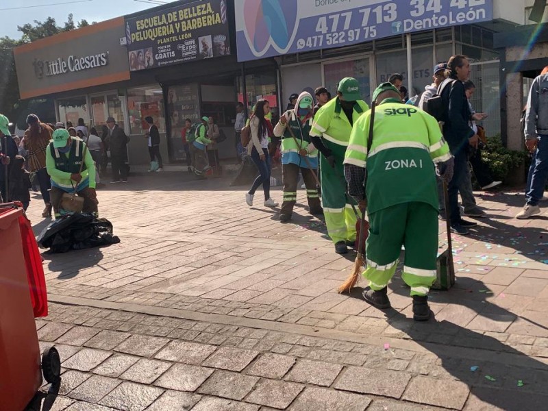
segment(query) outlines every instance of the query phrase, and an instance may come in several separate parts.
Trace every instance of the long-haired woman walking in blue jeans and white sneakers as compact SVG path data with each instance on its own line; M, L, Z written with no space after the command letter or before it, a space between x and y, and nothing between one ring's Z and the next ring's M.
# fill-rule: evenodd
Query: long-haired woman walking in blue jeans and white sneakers
M259 169L259 175L253 182L251 190L245 195L245 202L249 207L253 206L253 196L257 188L262 184L264 191L264 206L276 207L276 203L270 197L271 157L269 155L269 128L264 116L269 114L269 102L262 99L257 102L255 112L251 117L251 141L247 145L247 153Z

